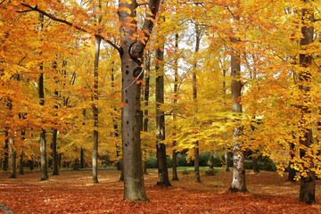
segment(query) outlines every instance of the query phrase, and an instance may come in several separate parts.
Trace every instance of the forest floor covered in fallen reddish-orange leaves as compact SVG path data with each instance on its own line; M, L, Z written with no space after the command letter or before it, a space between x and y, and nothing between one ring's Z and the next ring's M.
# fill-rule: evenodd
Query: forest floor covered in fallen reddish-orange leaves
M169 169L170 172L171 169ZM149 169L144 176L150 202L124 202L123 183L119 171L99 171L99 184L91 183L91 171L62 170L60 176L40 181L40 173L26 172L10 179L8 172L0 172L0 203L13 213L321 213L321 180L317 180L317 203L299 202L300 182L295 184L276 172L247 171L249 193L226 192L232 172L206 176L202 169L202 183L193 182L193 169L173 186L155 186L157 170ZM171 176L171 175L170 175ZM0 211L1 213L1 211Z

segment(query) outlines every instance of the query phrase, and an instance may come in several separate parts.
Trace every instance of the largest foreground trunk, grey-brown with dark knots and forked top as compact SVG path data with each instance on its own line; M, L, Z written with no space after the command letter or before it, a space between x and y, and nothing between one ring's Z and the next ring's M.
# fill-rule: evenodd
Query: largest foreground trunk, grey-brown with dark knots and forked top
M136 0L128 2L119 0L119 8L125 7L130 11L119 11L119 21L130 22L131 28L120 26L119 32L121 46L119 49L122 74L122 94L121 101L123 108L121 111L122 147L124 165L124 199L134 201L148 201L144 190L144 174L142 164L142 151L140 141L140 96L141 83L134 82L133 79L141 81L144 72L142 70L143 53L150 34L156 13L161 6L161 0L150 0L149 9L152 13L146 15L143 24L144 43L140 40L133 40L132 37L137 31L136 23ZM133 27L134 26L134 27ZM145 31L144 31L145 30Z

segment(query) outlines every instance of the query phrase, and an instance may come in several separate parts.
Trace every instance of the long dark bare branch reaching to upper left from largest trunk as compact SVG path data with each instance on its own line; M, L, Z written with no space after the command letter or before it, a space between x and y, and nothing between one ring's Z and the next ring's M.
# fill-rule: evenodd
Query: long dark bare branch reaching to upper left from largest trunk
M83 28L81 28L81 27L78 27L78 26L74 25L73 23L71 23L70 21L66 21L66 20L59 19L59 18L53 16L53 14L50 14L50 13L45 12L45 11L43 11L43 10L40 10L40 9L37 7L37 5L34 6L34 7L33 7L33 6L30 6L29 4L24 4L24 3L21 3L21 5L29 8L29 10L26 10L26 11L17 11L17 12L31 12L31 11L39 12L39 13L45 15L46 17L48 17L49 19L51 19L51 20L53 20L53 21L62 22L62 23L64 23L64 24L66 24L66 25L69 25L69 26L72 27L72 28L78 29L78 30L80 30L80 31L82 31L82 32L89 33L88 30L83 29ZM119 53L121 53L121 49L119 48L119 46L116 45L116 44L114 44L113 42L111 42L111 40L103 37L101 34L95 34L95 36L101 37L101 38L103 39L103 41L105 41L106 43L110 44L110 45L111 45L112 47L114 47Z

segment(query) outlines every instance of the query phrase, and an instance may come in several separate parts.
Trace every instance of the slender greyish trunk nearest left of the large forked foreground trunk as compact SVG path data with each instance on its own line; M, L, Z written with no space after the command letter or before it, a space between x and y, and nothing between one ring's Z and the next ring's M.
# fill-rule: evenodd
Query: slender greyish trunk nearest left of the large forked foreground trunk
M94 146L93 146L93 183L98 184L97 161L98 161L98 64L100 54L100 44L102 38L95 36L95 68L94 68Z

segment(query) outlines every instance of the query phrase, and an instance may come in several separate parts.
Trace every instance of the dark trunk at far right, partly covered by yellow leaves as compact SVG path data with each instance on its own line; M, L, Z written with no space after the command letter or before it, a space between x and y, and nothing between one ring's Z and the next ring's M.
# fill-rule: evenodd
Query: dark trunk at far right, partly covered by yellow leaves
M310 8L311 3L309 0L303 1L305 4L307 4L307 8L304 8L301 10L302 15L302 22L305 24L301 28L302 38L300 39L300 45L302 46L302 49L306 49L306 45L309 45L313 43L313 34L314 34L314 28L313 26L307 26L309 24L312 24L314 22L314 14L313 11L311 12ZM304 71L300 71L299 74L299 87L302 92L302 99L309 103L309 84L311 82L311 73L307 68L309 68L312 64L312 54L310 53L300 53L300 67ZM300 106L301 111L301 128L304 129L304 137L300 137L300 144L304 145L306 148L309 148L312 144L312 129L306 128L307 124L307 115L311 113L309 110L309 107L307 106ZM306 157L306 150L300 149L300 158L306 158L311 159L311 157ZM312 161L311 161L312 162ZM310 166L304 165L304 170L309 168L313 168L313 164L310 163ZM301 177L300 178L300 202L305 202L307 204L312 204L316 202L316 183L315 183L315 175L314 172L308 171L307 177Z

